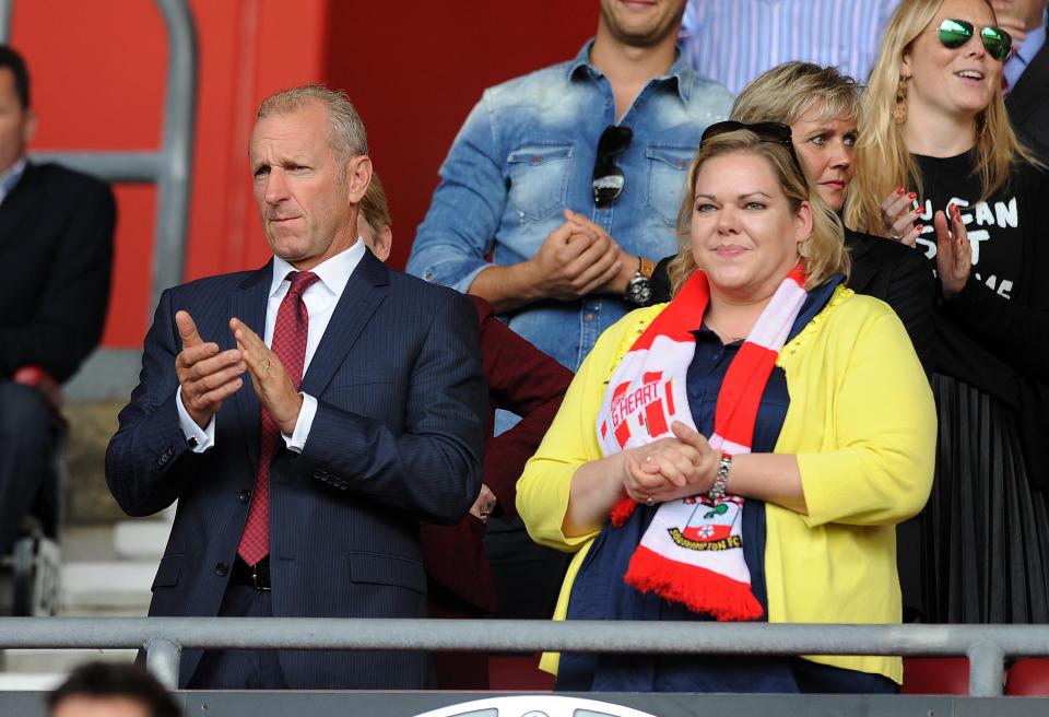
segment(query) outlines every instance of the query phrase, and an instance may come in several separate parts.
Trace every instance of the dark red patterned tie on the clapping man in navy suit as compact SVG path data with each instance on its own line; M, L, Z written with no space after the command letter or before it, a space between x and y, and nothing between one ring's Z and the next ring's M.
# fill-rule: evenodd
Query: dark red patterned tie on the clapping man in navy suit
M309 314L303 302L303 292L318 280L308 271L291 271L286 279L292 282L287 295L276 312L273 341L270 349L284 364L292 383L298 388L303 383L303 363L306 358L306 332ZM240 536L237 554L248 565L255 565L270 552L270 461L276 454L281 431L269 412L262 409L262 448L259 451L259 473L255 482L255 495L248 509L248 521Z

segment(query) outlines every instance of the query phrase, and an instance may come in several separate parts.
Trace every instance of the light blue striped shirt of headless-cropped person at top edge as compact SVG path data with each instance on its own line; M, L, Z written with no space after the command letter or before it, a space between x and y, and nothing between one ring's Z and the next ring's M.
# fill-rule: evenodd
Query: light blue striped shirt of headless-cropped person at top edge
M688 0L692 64L738 94L789 60L836 66L861 84L899 0Z

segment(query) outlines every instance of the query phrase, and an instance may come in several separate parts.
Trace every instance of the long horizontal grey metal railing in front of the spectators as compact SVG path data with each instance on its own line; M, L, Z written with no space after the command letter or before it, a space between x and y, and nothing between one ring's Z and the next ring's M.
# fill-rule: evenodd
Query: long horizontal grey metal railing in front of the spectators
M1006 657L1049 656L1049 625L830 625L307 618L4 618L0 648L128 648L178 684L184 648L664 655L967 656L969 694L1002 694Z

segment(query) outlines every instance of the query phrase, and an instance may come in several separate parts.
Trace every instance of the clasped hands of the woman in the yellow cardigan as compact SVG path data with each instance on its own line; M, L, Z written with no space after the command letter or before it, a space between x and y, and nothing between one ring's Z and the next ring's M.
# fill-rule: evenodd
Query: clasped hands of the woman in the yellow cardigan
M660 438L623 454L623 490L638 503L653 505L710 490L721 451L681 421L672 438Z

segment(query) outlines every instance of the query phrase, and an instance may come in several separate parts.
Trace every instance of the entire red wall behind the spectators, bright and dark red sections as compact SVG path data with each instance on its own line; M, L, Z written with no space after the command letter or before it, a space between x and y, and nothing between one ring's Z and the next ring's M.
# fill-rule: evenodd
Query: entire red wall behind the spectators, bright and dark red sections
M481 91L571 57L597 23L592 0L544 0L527 14L518 3L476 0L190 0L190 8L200 54L189 279L266 260L246 146L267 94L310 81L349 92L390 196L391 263L402 267L437 168ZM40 127L32 149L157 145L167 46L152 2L15 0L11 44L33 74ZM138 348L145 332L154 199L149 186L117 188L108 348Z

